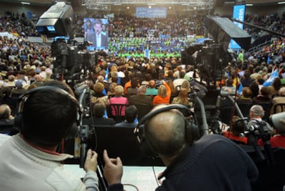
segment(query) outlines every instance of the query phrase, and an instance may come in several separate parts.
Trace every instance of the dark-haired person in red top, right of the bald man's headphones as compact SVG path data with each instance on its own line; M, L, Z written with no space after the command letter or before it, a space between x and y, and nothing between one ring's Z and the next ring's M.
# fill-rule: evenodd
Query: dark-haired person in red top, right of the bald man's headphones
M240 137L241 133L244 133L244 125L242 124L242 121L238 121L240 117L233 116L231 120L231 127L227 131L223 131L222 134L224 137L231 139L235 143L238 144L246 144L247 143L247 137Z

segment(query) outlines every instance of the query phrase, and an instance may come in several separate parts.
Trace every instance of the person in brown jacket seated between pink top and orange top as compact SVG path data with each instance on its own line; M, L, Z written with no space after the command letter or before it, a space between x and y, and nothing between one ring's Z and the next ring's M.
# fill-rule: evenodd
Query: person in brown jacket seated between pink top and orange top
M131 95L131 97L129 98L129 105L136 105L136 104L152 105L151 97L145 95L146 92L147 92L147 87L140 86L140 88L138 88L138 94Z

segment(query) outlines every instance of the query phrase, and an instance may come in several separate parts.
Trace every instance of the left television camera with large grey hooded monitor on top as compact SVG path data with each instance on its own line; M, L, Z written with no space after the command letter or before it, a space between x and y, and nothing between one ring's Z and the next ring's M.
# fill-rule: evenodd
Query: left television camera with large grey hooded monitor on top
M36 30L47 38L54 38L51 45L56 79L79 80L81 74L98 63L98 54L88 52L89 42L78 44L74 40L72 6L57 2L44 12L36 23Z

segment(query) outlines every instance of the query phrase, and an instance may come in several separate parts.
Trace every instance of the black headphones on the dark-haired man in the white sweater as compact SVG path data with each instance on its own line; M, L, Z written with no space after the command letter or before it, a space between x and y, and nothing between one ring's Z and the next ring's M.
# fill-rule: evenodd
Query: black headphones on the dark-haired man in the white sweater
M51 91L65 96L66 99L72 99L72 100L76 101L76 103L77 103L77 100L72 96L72 94L66 92L62 88L58 88L56 86L41 86L38 88L33 88L32 90L29 90L25 94L22 94L21 96L18 97L17 110L16 110L16 115L14 118L14 127L19 129L21 133L23 133L25 131L25 128L23 127L22 112L23 112L23 107L25 105L25 102L29 99L29 97L31 97L36 92L46 92L48 94L48 92L51 92ZM78 107L78 105L77 105L77 107ZM78 107L78 112L79 112L79 107ZM72 126L68 128L68 130L67 130L68 135L67 134L66 135L67 136L74 136L77 132L78 124L79 124L79 122L78 122L78 117L77 117L76 123L72 124Z

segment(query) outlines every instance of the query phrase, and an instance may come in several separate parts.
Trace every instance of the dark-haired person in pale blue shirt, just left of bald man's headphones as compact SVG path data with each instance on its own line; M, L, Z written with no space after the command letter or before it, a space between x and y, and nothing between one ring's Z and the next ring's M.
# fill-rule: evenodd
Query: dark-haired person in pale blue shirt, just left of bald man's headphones
M136 106L129 105L126 108L125 121L116 123L115 126L136 128L136 125L138 125L136 122L136 117L138 117L138 110L136 109Z

